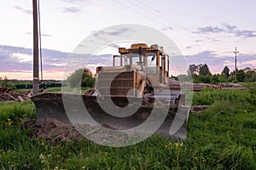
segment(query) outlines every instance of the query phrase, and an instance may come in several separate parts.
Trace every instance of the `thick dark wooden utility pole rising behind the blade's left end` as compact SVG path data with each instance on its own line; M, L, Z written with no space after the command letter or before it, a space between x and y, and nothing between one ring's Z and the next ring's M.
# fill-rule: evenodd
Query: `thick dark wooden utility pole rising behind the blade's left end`
M39 93L38 0L33 0L33 95Z

